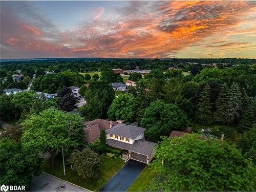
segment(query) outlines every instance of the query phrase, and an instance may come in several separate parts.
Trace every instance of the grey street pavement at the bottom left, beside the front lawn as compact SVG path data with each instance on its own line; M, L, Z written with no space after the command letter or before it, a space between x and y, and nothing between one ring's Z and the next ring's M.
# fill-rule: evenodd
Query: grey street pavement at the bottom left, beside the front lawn
M89 191L72 185L46 173L35 177L30 185L31 191Z

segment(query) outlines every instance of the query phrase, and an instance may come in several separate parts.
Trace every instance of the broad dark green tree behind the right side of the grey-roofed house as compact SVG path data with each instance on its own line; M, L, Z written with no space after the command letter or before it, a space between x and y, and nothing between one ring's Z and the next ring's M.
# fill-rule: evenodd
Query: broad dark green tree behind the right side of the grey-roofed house
M156 142L160 136L169 136L173 130L184 130L189 122L177 105L156 100L145 110L140 124L146 128L146 137Z

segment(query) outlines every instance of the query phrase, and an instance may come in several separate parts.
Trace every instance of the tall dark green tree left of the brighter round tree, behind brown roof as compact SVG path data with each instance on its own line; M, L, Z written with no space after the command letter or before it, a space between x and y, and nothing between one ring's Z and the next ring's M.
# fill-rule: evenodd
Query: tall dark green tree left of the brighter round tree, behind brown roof
M115 92L107 82L92 81L84 98L87 103L83 106L82 112L86 119L106 118L109 106L115 98Z

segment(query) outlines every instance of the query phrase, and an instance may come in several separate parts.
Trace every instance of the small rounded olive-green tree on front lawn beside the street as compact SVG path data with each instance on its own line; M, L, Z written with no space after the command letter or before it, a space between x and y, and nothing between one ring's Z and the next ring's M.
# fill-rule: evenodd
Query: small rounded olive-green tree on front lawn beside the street
M68 159L73 164L79 176L83 178L97 178L101 166L101 157L89 147L81 152L73 152Z

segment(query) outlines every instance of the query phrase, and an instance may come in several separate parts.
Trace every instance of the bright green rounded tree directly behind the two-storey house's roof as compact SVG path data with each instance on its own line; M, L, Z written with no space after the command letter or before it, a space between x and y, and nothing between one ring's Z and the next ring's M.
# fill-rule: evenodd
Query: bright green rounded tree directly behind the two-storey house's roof
M110 105L108 116L110 119L122 119L128 122L134 120L136 99L133 94L120 94Z

